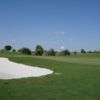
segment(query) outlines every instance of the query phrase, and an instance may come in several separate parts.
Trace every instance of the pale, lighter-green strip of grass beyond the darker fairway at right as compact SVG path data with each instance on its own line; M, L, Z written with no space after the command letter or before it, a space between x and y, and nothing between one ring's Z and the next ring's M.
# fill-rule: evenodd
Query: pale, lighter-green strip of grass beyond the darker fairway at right
M50 59L55 61L62 61L62 62L69 62L69 63L78 63L78 64L100 64L100 56L93 56L93 55L76 55L76 56L43 56L37 57L42 59Z

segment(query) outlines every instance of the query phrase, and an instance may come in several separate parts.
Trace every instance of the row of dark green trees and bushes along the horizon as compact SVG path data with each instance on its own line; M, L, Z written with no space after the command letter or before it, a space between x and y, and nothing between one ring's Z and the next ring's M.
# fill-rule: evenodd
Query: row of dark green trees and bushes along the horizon
M50 50L44 50L44 48L41 45L37 45L35 47L35 51L31 51L29 48L24 47L24 48L20 48L19 50L13 49L11 45L6 45L4 46L3 51L11 51L11 52L17 52L17 53L21 53L21 54L25 54L25 55L36 55L36 56L67 56L70 55L71 52L68 49L62 50L62 51L55 51L54 49L50 49ZM80 50L80 53L82 54L86 54L86 53L97 53L100 51L88 51L86 52L84 49ZM77 51L74 51L73 54L77 54Z

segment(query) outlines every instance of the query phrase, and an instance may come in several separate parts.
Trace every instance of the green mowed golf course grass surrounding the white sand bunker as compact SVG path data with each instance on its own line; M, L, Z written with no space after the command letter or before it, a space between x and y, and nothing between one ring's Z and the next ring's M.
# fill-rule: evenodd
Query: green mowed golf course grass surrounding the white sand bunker
M4 54L0 54L5 56ZM54 70L39 78L0 80L0 100L100 100L100 56L33 57L10 60Z

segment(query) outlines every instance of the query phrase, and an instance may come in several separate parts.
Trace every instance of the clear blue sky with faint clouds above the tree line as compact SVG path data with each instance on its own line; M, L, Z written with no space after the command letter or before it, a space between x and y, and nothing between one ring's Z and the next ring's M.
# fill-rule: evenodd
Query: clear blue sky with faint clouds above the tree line
M0 49L100 50L100 0L0 0Z

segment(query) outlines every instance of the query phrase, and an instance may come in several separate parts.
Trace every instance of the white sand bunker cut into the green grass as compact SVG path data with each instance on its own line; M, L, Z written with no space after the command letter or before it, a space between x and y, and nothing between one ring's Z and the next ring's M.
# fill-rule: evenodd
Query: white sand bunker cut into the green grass
M0 57L0 79L40 77L52 73L53 71L49 69L18 64L9 61L8 58Z

